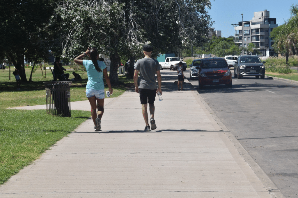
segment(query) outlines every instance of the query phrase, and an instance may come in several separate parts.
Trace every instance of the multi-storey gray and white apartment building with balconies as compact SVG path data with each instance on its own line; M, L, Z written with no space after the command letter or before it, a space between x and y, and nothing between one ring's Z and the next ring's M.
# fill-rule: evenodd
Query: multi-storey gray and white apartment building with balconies
M257 47L256 49L263 56L273 56L273 40L270 38L270 32L277 26L276 18L270 18L269 11L254 12L252 20L243 21L243 23L240 21L238 26L235 27L235 43L239 48L242 48L242 46L247 47L249 43L254 43ZM247 53L247 51L243 51L243 55L250 55Z

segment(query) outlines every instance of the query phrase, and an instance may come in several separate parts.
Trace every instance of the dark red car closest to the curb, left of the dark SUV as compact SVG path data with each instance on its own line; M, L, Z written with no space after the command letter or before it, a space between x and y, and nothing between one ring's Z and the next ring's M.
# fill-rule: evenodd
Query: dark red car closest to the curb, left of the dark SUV
M199 89L204 85L225 84L232 87L232 74L224 58L206 58L196 67L199 76Z

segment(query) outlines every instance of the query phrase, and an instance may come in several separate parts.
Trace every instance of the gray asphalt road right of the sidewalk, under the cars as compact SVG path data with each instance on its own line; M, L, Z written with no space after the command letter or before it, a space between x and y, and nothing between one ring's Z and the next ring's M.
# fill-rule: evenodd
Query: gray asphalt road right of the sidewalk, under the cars
M190 82L285 197L298 197L298 84L232 77L232 88L201 90Z

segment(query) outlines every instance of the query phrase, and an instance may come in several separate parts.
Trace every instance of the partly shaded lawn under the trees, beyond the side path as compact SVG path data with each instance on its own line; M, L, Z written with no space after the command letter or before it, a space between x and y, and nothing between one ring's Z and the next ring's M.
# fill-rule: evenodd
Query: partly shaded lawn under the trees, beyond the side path
M47 73L49 73L49 71L50 70L46 70ZM30 76L30 72L30 68L26 68L27 76ZM45 73L44 70L43 73ZM67 73L70 73L69 78L72 78L72 71L67 71ZM72 82L70 86L70 100L71 102L88 100L84 92L88 81L87 73L82 70L76 73L79 73L83 80ZM39 69L32 74L33 83L23 83L21 84L21 90L16 90L15 77L11 74L11 79L9 80L9 70L6 69L4 72L0 70L0 108L46 104L46 91L43 82L49 82L52 78L53 76L44 78ZM29 77L27 79L29 80ZM124 75L119 75L119 81L122 83L112 85L112 98L118 97L124 93L128 84L133 84L133 80L127 79ZM105 91L108 91L108 87L105 87Z

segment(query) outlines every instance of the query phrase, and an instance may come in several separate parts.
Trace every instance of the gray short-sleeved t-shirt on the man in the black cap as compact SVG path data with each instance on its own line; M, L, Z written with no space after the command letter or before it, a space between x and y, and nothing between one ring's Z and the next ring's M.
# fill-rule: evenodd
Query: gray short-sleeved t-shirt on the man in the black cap
M156 89L156 71L160 70L159 62L153 58L142 58L136 62L134 69L140 71L140 89Z

